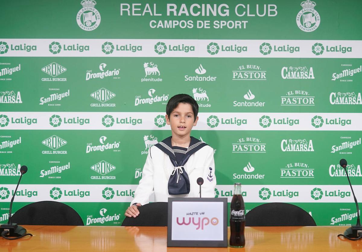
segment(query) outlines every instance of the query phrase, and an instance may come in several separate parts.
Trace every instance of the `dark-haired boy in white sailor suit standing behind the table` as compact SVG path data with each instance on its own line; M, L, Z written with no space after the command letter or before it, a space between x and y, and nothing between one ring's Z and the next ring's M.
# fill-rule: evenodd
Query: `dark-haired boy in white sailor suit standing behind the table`
M142 179L135 191L127 217L136 218L138 207L147 204L152 192L155 202L168 202L169 197L199 197L197 179L204 180L202 197L215 195L214 150L205 142L190 137L198 121L199 106L189 95L173 96L166 106L166 122L172 137L150 147L143 167Z

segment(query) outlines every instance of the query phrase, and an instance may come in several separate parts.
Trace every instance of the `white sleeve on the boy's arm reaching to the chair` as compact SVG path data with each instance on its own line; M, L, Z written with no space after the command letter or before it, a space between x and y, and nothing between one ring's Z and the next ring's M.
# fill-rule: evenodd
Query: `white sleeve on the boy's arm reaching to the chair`
M151 147L152 148L152 147ZM149 203L150 195L153 193L153 162L151 158L151 148L148 150L146 163L142 170L142 179L135 190L135 197L131 202L145 205Z

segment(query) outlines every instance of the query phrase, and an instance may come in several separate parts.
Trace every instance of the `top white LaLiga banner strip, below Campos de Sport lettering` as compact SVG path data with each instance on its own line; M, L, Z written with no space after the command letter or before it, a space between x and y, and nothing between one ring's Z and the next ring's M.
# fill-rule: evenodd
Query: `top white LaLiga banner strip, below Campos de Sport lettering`
M362 58L358 40L8 39L3 57Z

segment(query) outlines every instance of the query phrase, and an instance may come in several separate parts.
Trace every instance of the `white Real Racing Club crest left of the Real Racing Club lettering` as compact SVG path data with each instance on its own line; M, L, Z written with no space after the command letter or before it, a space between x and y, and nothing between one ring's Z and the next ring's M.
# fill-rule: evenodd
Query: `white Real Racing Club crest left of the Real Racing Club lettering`
M77 24L85 31L96 29L101 23L101 14L94 8L97 2L94 0L83 0L80 4L83 8L77 13Z

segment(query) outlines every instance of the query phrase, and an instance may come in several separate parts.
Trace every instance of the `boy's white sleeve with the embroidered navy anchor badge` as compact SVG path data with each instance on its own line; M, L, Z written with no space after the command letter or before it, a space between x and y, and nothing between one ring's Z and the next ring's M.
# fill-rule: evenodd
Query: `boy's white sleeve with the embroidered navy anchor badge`
M203 180L204 183L201 186L201 197L214 198L216 177L215 177L214 149L212 149L211 147L210 147L210 152L206 157L206 163L203 172Z

